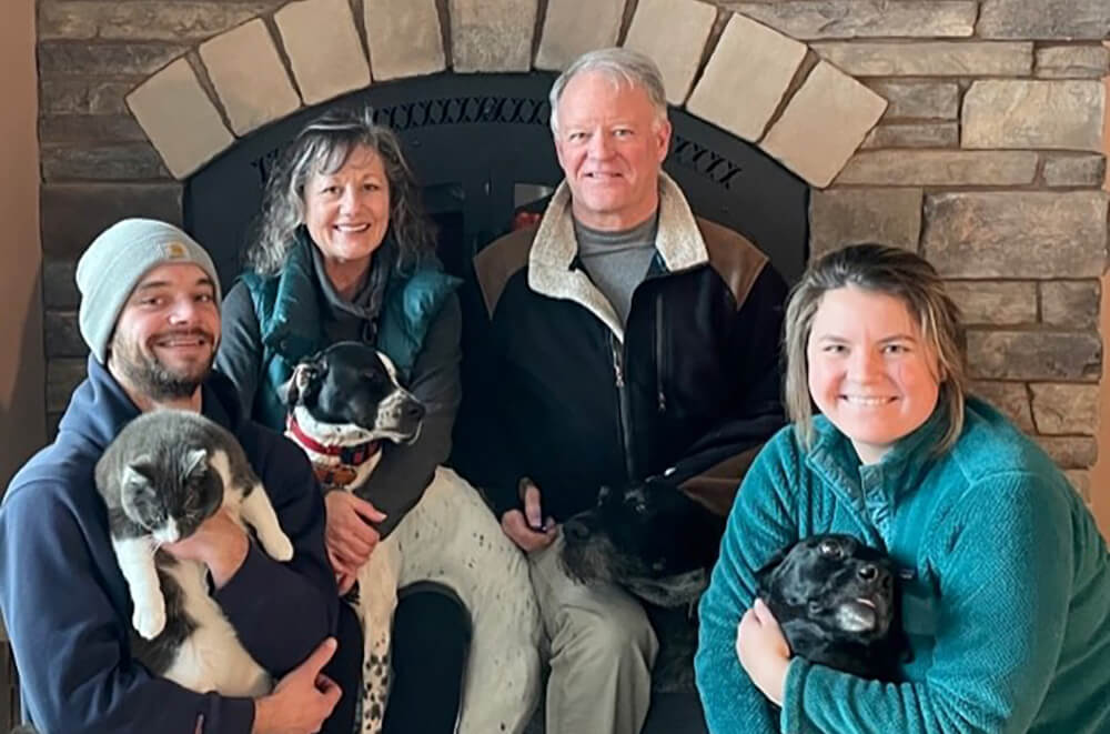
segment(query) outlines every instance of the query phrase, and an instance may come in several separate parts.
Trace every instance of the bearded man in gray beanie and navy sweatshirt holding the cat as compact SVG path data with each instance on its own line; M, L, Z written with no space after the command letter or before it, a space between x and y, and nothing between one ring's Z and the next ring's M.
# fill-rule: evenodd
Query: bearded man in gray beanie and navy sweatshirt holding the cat
M16 655L24 717L41 732L248 734L339 732L331 713L360 671L336 670L337 591L324 550L324 509L304 454L241 415L231 381L212 371L220 282L179 228L123 220L77 269L88 378L54 442L12 479L0 504L0 607ZM275 678L260 698L192 692L131 660L131 596L115 563L93 467L132 419L161 408L201 412L242 444L293 541L271 559L224 512L163 545L203 563L212 599ZM359 651L361 654L361 650Z

